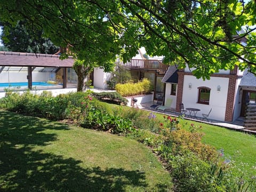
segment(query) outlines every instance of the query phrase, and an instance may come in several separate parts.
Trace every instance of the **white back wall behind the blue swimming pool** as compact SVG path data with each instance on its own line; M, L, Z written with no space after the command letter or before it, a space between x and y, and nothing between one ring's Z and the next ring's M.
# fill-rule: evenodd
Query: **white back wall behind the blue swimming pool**
M27 71L7 71L0 74L0 83L15 83L15 82L27 82ZM46 82L53 77L55 79L55 73L43 73L43 72L32 72L32 81L33 82Z

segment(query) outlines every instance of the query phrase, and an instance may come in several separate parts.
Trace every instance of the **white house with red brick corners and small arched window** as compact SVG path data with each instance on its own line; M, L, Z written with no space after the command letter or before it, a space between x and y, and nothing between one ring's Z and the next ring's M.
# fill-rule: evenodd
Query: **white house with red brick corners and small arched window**
M198 108L197 113L208 113L210 118L232 122L245 116L246 103L255 103L256 77L236 66L233 70L220 70L210 80L197 79L193 69L177 69L170 66L162 82L165 83L165 99L172 98L172 108L180 112L179 104L185 108Z

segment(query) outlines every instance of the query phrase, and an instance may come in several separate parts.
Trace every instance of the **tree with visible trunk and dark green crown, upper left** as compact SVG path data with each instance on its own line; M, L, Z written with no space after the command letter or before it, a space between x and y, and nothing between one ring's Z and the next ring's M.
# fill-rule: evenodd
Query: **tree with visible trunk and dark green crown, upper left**
M118 9L119 4L109 1L1 1L0 20L12 25L24 20L26 28L43 29L55 45L68 45L61 58L71 54L78 60L74 65L79 70L77 91L83 91L84 77L93 67L111 71L117 54L127 60L138 50L132 28L136 23L126 21L125 13ZM116 11L123 16L115 18Z

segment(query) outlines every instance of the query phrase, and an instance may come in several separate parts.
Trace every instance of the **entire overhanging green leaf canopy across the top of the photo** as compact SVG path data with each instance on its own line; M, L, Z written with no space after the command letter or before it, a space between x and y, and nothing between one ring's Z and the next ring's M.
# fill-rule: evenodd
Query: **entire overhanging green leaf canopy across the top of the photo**
M256 72L254 0L9 0L0 10L1 21L26 20L55 45L68 45L68 54L106 70L116 55L126 61L145 46L198 78L235 65Z

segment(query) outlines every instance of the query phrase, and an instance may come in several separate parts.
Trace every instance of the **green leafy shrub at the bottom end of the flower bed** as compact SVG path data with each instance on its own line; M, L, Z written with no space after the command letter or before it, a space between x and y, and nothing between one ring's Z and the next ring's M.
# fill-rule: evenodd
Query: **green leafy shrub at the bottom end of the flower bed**
M189 150L170 161L174 191L226 191L212 174L211 165Z

